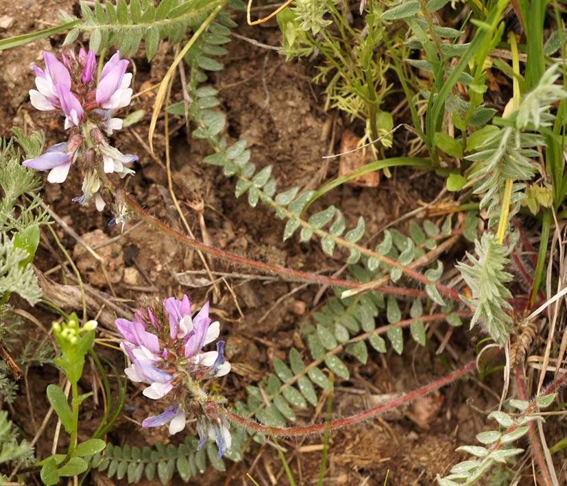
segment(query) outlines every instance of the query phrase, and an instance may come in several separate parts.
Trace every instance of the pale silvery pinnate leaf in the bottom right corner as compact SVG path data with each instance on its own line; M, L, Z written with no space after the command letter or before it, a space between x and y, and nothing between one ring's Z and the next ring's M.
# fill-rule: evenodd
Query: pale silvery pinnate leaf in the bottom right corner
M520 413L527 413L535 411L534 405L545 408L553 400L555 400L555 393L548 393L536 398L535 404L522 400L510 400L509 406L517 409ZM513 443L528 433L528 422L535 420L544 422L543 417L539 415L520 415L518 419L514 420L503 411L494 411L488 415L488 418L496 420L500 428L498 430L485 430L476 434L476 439L486 447L461 446L456 449L457 451L468 452L479 459L462 461L454 465L450 474L444 478L437 474L437 483L440 486L472 485L496 465L504 465L513 461L516 455L524 452L522 448L514 448Z

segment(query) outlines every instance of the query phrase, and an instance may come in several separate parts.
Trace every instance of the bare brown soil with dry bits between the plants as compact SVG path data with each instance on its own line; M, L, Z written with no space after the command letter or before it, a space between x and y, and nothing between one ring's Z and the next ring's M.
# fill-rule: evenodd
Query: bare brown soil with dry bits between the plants
M59 9L76 14L78 8L78 2L71 0L30 0L29 3L0 1L0 23L3 26L0 27L0 37L47 28L58 23ZM243 14L234 16L234 19L241 25L236 30L241 36L268 45L279 45L280 34L275 23L247 27ZM49 112L34 110L27 94L34 87L32 65L43 65L43 50L59 54L63 38L63 35L53 36L0 51L1 135L10 137L10 129L16 125L25 127L27 132L45 130L47 145L64 140L62 120ZM229 140L246 138L252 149L252 160L258 167L274 165L278 189L291 186L317 189L336 178L338 160L330 159L324 165L322 156L339 151L344 130L359 132L360 136L362 126L348 123L340 114L323 110L322 87L311 82L315 61L285 63L275 51L239 39L232 40L227 47L230 53L221 60L225 69L211 73L208 82L220 90L221 108L228 116L226 136ZM151 64L147 63L141 50L132 60L135 66L134 93L159 82L171 59L172 51L167 45L161 45ZM173 101L182 99L179 84L173 88L173 97ZM153 102L153 93L134 99L129 109L144 109L146 115L143 121L132 128L115 132L112 143L123 153L139 156L134 167L136 175L129 186L130 194L152 215L180 229L180 219L167 190L167 174L162 169L165 160L162 119L156 128L154 156L145 145ZM334 118L332 123L330 117ZM396 119L395 123L405 121L402 117ZM328 130L330 124L332 130ZM297 237L282 243L284 223L274 218L271 210L264 206L253 209L245 200L235 199L234 181L225 178L217 167L202 163L202 158L209 154L206 143L188 138L184 120L180 117L173 117L171 126L174 191L197 238L230 252L293 269L333 274L341 268L346 257L341 252L335 252L335 257L329 258L323 254L318 243L299 243ZM402 139L394 143L388 154L403 155L406 147ZM53 213L75 230L80 239L93 247L101 258L95 260L59 223L54 225L62 245L73 256L84 281L93 291L91 296L95 300L95 307L101 310L98 316L100 337L116 336L112 324L115 308L109 303L118 306L125 315L130 315L144 297L180 297L187 293L197 305L210 300L211 313L221 321L221 337L227 341L227 355L236 370L224 378L222 389L230 401L245 399L245 386L254 385L263 374L272 371L269 364L272 356L285 359L289 347L295 342L295 330L302 321L309 320L310 313L315 310L313 302L320 287L308 286L276 302L300 284L278 278L259 280L255 271L236 268L220 260L210 260L211 269L231 274L226 282L219 282L220 293L217 295L202 272L199 256L193 250L165 239L154 229L136 221L129 221L124 232L121 232L120 226L108 227L111 218L109 212L97 212L94 204L80 206L72 203L71 198L80 195L81 182L82 173L72 170L64 184L46 184L43 197ZM347 226L354 226L359 215L363 215L367 236L361 243L370 245L376 244L376 235L387 223L415 210L420 201L431 201L441 189L442 181L437 180L434 174L416 176L409 170L398 169L393 171L391 178L382 177L380 184L374 188L342 186L320 199L314 209L335 204L346 216ZM398 228L405 230L408 223L405 221ZM53 237L45 231L42 236L35 265L53 284L73 284L69 276L64 278L61 271L60 265L66 268L67 265ZM465 243L459 245L461 250L465 247ZM101 270L100 261L104 262L107 275ZM188 271L200 273L191 274ZM234 290L244 317L239 315L227 285ZM53 289L53 299L57 298L57 293L57 288ZM324 295L332 295L332 291L328 289ZM321 302L324 303L324 298L317 305ZM80 308L78 301L75 302L75 308L69 305L69 301L64 303L67 304L64 307L66 311ZM55 317L49 308L42 305L27 310L46 326ZM91 312L96 311L95 308ZM380 316L378 320L385 320L385 317ZM453 333L448 359L451 359L452 353L453 356L468 353L466 350L471 333L466 330L467 327L463 326ZM437 348L447 332L447 326L439 324L430 331L429 337ZM43 339L40 330L31 325L27 333ZM346 417L363 411L375 406L372 400L376 400L376 397L410 391L444 374L445 369L433 352L415 345L411 338L407 338L402 356L393 350L383 355L370 351L366 365L345 358L351 365L352 378L348 382L337 382L333 398L335 416ZM122 363L119 352L107 348L97 352L117 367ZM455 361L451 359L451 363ZM91 374L91 366L92 363L86 366L85 376ZM59 373L54 367L30 367L27 371L27 390L22 383L16 403L8 407L11 420L28 437L34 436L36 427L47 413L47 385L58 382L58 379ZM466 459L465 454L455 453L455 448L463 444L476 444L474 436L486 428L483 411L489 410L498 401L500 380L501 377L494 378L495 393L491 393L490 376L482 384L476 378L469 377L392 416L379 417L331 434L324 484L383 485L387 476L388 485L431 485L436 474L443 476L452 465ZM80 393L92 389L91 381L86 378L81 385L83 391ZM139 425L148 414L159 413L162 404L146 400L135 383L130 383L128 387L123 412L108 435L108 441L139 447L155 444L156 441L178 444L180 438L170 437L165 428L144 429ZM324 420L321 407L316 411L308 409L304 413L296 413L298 424ZM95 406L92 400L85 402L80 418L80 440L88 439L101 415L101 404ZM56 420L51 417L36 445L38 458L51 453L55 426ZM300 441L284 439L280 444L296 483L315 484L322 437L306 437ZM65 445L61 438L60 450ZM244 461L226 461L226 464L225 473L209 468L201 478L191 478L189 484L252 484L246 478L247 473L260 485L287 483L282 463L270 444L255 444L245 454ZM32 479L29 483L33 484L34 481L37 483L38 480ZM125 484L124 480L108 480L104 473L99 472L95 472L86 483L88 481L97 485ZM532 481L531 477L525 477L520 484L531 484ZM172 485L181 483L178 476L171 481Z

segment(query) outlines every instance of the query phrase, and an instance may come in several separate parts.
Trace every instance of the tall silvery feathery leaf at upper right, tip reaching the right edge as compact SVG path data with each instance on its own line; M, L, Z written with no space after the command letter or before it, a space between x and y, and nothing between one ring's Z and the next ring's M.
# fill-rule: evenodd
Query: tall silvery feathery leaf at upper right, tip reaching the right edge
M555 116L549 112L551 105L567 97L566 91L555 84L558 65L548 69L538 86L522 99L520 106L505 118L502 128L487 125L470 136L467 149L474 154L468 160L481 161L481 168L473 171L470 178L481 180L475 184L474 192L485 193L481 199L481 208L488 208L489 226L498 223L498 207L506 179L530 180L536 172L531 157L539 157L540 152L533 147L544 145L540 134L528 133L541 131L553 123ZM518 210L519 202L525 196L520 192L524 184L514 184L511 198L511 212Z

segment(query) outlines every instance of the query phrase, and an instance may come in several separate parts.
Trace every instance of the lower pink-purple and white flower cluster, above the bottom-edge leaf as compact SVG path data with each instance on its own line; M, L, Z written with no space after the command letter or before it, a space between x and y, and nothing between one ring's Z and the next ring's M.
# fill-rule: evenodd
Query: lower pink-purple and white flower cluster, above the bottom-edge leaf
M161 304L139 310L134 320L116 319L115 324L123 337L120 347L128 355L131 365L125 369L130 380L145 382L147 398L158 400L170 395L178 403L142 422L144 427L169 424L175 434L185 428L186 410L203 412L209 397L201 385L206 380L230 372L230 363L224 359L224 341L217 342L216 351L203 351L205 345L219 337L218 321L208 317L208 302L191 317L191 303L184 295L182 300L169 297ZM207 417L202 413L197 420L200 434L198 448L210 437L217 442L219 458L230 448L228 422L221 417Z

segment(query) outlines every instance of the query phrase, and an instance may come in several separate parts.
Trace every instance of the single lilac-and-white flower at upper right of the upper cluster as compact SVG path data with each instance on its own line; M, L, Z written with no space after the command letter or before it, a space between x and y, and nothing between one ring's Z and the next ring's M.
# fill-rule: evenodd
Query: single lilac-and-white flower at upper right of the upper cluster
M101 71L97 86L97 104L105 110L116 110L130 104L132 73L126 73L128 60L120 58L120 51L110 58Z

